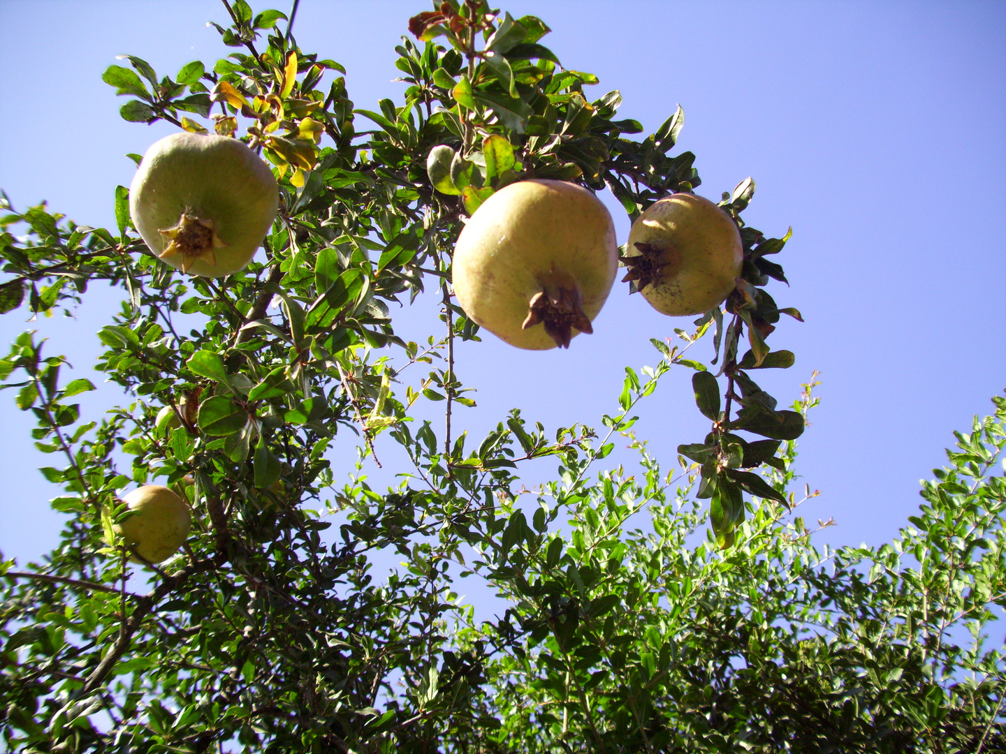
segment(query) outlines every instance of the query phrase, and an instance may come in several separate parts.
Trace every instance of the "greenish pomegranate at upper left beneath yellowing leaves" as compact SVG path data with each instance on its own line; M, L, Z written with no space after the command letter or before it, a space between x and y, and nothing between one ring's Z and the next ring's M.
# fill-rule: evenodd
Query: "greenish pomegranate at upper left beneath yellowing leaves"
M129 192L130 214L150 250L207 277L252 261L278 206L273 172L224 136L182 133L154 143Z

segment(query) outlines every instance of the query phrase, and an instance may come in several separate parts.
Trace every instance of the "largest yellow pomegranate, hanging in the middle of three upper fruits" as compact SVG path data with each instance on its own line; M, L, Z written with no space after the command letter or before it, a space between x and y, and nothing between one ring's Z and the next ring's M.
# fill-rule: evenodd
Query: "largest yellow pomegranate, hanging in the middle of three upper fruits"
M454 250L465 313L507 343L568 348L593 333L615 282L615 225L590 191L565 181L511 183L472 215Z

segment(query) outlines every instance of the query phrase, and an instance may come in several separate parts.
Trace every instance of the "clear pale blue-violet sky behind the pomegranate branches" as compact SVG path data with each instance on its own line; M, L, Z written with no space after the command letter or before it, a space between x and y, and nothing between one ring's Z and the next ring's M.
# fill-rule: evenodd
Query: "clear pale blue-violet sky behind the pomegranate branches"
M382 98L401 102L393 47L408 17L428 7L302 0L295 33L305 51L346 66L357 108L376 109ZM565 66L601 77L595 99L621 89L622 117L647 133L680 103L677 151L698 156L698 193L716 200L753 176L748 224L769 235L793 226L778 257L792 288L769 291L806 324L781 324L770 345L794 351L796 366L759 381L789 403L812 370L822 373L822 405L798 466L802 482L822 491L802 514L837 522L818 541L889 540L920 502L919 479L944 462L952 430L988 413L989 398L1006 387L1006 3L501 7L540 16L553 29L542 42ZM47 199L77 222L113 226L114 188L128 186L135 170L123 155L143 153L173 127L122 121L125 98L101 74L120 53L159 74L197 58L210 67L231 51L205 26L210 19L226 19L210 0L0 0L0 187L15 206ZM604 198L625 241L628 220ZM70 359L73 376L98 384L102 376L89 371L102 350L95 332L118 299L96 285L73 319L26 323L23 310L0 317L0 348L37 329L50 354ZM433 332L432 302L395 314L408 337ZM456 425L478 441L520 407L553 429L600 426L615 410L623 367L655 363L649 339L676 327L690 321L663 317L616 284L595 335L568 351L521 352L485 334L459 349L459 377L478 388L479 407L460 409ZM637 424L667 466L678 443L707 431L689 378L684 369L669 375ZM47 501L57 490L34 469L59 459L33 448L32 417L13 398L0 392L0 551L23 565L56 541L60 517ZM80 398L85 419L130 400L109 385ZM337 473L351 470L351 447L347 433L332 450ZM388 480L400 470L397 456L387 443L378 452L387 467L378 479ZM547 463L532 475L553 473Z

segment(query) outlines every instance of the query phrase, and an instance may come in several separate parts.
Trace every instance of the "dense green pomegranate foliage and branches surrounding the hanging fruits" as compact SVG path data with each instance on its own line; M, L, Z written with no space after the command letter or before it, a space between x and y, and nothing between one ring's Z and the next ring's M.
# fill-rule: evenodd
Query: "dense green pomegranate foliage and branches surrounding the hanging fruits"
M105 80L136 98L127 120L199 131L183 114L211 117L274 166L280 218L245 270L190 278L158 261L123 187L117 233L4 198L0 312L86 306L91 280L122 289L98 368L133 400L86 420L73 397L94 386L65 381L30 332L0 360L36 446L61 458L42 473L66 514L43 563L0 558L9 750L1006 750L1004 653L985 645L1006 606L1006 400L958 436L896 541L815 549L790 489L813 384L778 410L749 375L793 364L766 338L799 313L765 291L785 280L766 256L786 238L740 220L748 179L720 205L745 254L725 311L677 346L654 340L659 362L627 368L602 431L514 409L467 444L454 343L479 336L450 289L464 216L527 177L608 187L638 216L700 183L694 155L669 156L683 115L629 138L642 126L613 120L618 92L589 101L597 78L558 64L542 21L474 0L410 20L404 105L354 110L341 77L316 88L341 66L301 51L283 13L224 5L240 51L174 78L130 57ZM425 287L445 332L404 342L387 303ZM716 375L684 358L710 332ZM694 371L712 425L667 469L633 425L671 369ZM421 401L444 406L443 430L413 421ZM164 406L176 422L155 421ZM361 457L393 438L400 485L333 465L338 432ZM617 436L636 467L604 462ZM549 456L553 481L527 493L522 464ZM188 500L193 531L132 593L112 525L118 495L148 482ZM385 574L373 557L389 549L403 564ZM502 616L477 621L459 574L497 591Z

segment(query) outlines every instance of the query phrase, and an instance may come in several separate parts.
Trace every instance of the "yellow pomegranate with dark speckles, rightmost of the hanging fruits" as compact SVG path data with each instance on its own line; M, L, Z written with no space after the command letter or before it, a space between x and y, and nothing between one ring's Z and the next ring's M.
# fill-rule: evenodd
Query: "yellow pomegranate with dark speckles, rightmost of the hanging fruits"
M652 204L629 233L623 278L654 309L683 317L721 304L736 286L743 262L733 219L708 199L672 194Z

